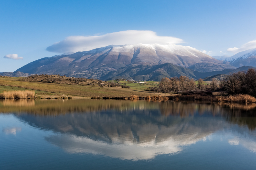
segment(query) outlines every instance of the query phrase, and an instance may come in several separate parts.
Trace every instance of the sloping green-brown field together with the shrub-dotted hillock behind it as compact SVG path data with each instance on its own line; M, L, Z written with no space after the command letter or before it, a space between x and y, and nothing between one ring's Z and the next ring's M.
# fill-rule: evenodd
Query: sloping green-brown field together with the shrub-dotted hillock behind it
M51 82L51 83L49 83ZM108 87L110 83L130 86L130 88ZM210 84L210 82L204 82ZM93 84L93 85L90 85ZM101 87L100 85L103 85ZM35 90L36 98L61 97L63 94L74 98L153 96L167 95L149 91L148 87L158 87L159 82L148 81L137 84L129 81L100 81L84 78L63 77L58 75L37 75L35 77L0 77L0 93L13 90Z

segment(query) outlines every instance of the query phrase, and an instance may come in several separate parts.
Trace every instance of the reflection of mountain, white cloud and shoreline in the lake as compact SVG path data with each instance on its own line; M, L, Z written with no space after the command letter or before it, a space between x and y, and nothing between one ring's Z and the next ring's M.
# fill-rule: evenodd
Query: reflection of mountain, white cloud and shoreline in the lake
M0 113L15 113L29 125L57 132L45 140L68 153L152 159L182 152L182 146L234 125L237 136L229 144L256 152L255 103L1 100Z

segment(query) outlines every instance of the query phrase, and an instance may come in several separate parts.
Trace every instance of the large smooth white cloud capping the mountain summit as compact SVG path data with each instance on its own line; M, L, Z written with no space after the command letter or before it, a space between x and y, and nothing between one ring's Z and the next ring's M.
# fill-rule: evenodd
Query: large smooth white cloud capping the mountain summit
M47 51L56 53L68 53L77 51L87 51L95 48L105 47L108 45L124 44L155 44L169 43L179 44L183 40L170 36L157 36L153 31L128 30L107 33L104 35L94 36L69 36L65 40L56 42L46 48Z

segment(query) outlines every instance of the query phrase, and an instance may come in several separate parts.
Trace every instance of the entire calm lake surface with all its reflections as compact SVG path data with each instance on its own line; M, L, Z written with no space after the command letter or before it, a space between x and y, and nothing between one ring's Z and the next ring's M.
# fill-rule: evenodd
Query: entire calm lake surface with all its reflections
M255 103L0 100L0 169L256 169Z

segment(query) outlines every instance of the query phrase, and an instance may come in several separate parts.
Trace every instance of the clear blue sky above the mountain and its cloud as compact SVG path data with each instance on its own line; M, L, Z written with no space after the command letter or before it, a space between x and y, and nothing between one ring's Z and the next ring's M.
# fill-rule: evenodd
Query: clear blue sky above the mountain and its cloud
M148 30L157 36L176 37L183 41L179 45L205 50L210 56L233 55L238 50L249 48L248 42L254 47L255 6L255 0L1 0L0 72L13 72L34 60L60 54L60 50L50 52L46 48L67 37L126 30ZM17 54L23 59L4 58L9 54Z

